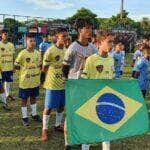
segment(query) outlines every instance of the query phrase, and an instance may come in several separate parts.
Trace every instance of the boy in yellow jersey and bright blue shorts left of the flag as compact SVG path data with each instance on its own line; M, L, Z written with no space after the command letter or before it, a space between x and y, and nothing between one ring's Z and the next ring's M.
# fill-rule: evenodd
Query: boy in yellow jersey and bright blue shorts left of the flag
M62 75L62 65L65 55L65 43L68 37L65 28L57 29L57 42L51 46L44 55L43 70L47 73L44 88L45 93L45 109L43 111L43 128L42 141L48 139L48 124L50 112L56 109L55 130L63 131L62 117L65 106L65 87Z

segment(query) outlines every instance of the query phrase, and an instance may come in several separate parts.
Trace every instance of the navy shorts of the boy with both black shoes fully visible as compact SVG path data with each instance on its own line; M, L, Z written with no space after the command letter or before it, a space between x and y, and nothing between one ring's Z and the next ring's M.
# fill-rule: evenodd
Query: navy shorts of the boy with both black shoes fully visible
M19 98L21 98L22 100L27 100L29 97L37 97L37 96L39 96L39 87L29 89L19 88Z

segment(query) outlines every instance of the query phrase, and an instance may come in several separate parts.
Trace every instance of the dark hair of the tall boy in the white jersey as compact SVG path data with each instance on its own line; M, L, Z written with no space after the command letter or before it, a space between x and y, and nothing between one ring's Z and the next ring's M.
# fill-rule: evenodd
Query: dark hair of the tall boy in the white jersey
M81 19L81 18L79 18L79 19L75 20L74 28L76 30L82 29L82 28L84 28L86 26L93 27L93 23L92 23L92 21L90 19Z

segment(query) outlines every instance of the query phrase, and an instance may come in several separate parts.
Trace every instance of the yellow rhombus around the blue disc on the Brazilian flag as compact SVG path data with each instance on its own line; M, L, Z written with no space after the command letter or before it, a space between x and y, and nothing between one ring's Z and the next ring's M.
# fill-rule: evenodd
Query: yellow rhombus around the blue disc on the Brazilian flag
M105 93L112 93L118 96L123 103L125 104L125 115L122 118L122 120L116 124L106 124L100 121L100 119L97 116L95 106L97 105L97 99L105 94ZM102 90L97 92L92 98L90 98L85 104L83 104L77 111L76 114L79 116L92 121L93 123L97 124L100 127L103 127L111 132L117 131L128 119L130 119L136 112L137 110L142 107L142 104L135 101L132 98L129 98L112 88L105 86ZM134 109L133 109L134 108ZM85 111L86 110L86 111Z

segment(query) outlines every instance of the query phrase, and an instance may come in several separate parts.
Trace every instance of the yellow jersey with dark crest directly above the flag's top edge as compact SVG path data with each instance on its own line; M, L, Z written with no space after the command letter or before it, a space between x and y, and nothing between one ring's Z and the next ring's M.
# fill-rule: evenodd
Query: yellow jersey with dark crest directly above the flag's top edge
M94 54L87 58L82 78L86 79L112 79L114 77L114 60L111 56L106 58Z

